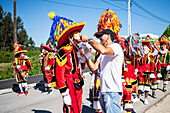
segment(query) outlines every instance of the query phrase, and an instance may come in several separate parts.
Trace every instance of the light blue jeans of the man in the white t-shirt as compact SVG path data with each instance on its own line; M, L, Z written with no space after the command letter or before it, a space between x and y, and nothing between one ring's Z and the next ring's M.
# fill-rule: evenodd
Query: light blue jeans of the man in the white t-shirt
M100 96L102 113L121 113L122 92L103 92Z

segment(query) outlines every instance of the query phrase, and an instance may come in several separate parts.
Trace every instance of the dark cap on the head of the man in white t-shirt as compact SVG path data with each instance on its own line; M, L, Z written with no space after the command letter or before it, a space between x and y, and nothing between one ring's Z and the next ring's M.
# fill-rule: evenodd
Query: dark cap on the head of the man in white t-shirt
M104 34L110 34L111 40L114 41L114 39L115 39L115 34L114 34L113 31L110 30L110 29L104 29L104 30L101 31L101 32L97 32L97 33L94 34L94 36L96 36L97 38L100 38L100 37L102 37Z

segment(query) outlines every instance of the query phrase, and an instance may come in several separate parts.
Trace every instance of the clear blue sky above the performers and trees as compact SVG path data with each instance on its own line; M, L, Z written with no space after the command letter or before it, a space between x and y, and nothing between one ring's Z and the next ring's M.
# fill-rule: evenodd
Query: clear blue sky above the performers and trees
M75 22L86 22L81 34L93 37L103 12L109 8L114 11L122 24L119 36L128 35L128 4L127 0L16 0L17 16L22 18L24 28L32 37L36 46L45 44L50 33L52 20L48 13L67 17ZM131 33L152 33L161 36L170 25L170 0L134 0L142 8L158 16L150 16L136 4L131 5ZM0 0L4 11L13 15L13 0ZM13 17L12 17L13 18ZM162 22L160 20L167 20Z

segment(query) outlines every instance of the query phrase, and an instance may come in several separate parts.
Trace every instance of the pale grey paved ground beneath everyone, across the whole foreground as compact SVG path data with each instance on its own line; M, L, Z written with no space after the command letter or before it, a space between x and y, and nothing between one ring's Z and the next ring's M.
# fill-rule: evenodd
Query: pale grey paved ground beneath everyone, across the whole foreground
M82 113L94 113L88 98L91 76L89 73L85 73L85 77ZM134 103L136 113L169 113L170 84L168 84L168 91L166 93L162 92L162 87L161 82L159 85L160 89L156 92L157 99L149 96L148 105L143 104L143 96L141 96L141 101ZM11 88L0 90L0 113L62 113L62 97L59 91L54 90L53 94L47 95L41 93L42 89L42 83L39 82L29 84L28 96L17 96L17 92L14 92L15 90L13 91ZM122 113L125 113L125 111Z

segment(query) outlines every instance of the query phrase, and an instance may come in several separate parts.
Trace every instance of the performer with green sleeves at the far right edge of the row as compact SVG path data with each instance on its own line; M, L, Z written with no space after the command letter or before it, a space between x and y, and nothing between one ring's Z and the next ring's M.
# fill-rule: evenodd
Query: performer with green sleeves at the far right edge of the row
M168 71L170 70L170 52L168 51L167 38L163 35L159 38L160 48L159 56L161 63L161 75L163 78L163 91L167 91L166 85L168 84ZM158 83L160 78L158 78Z

